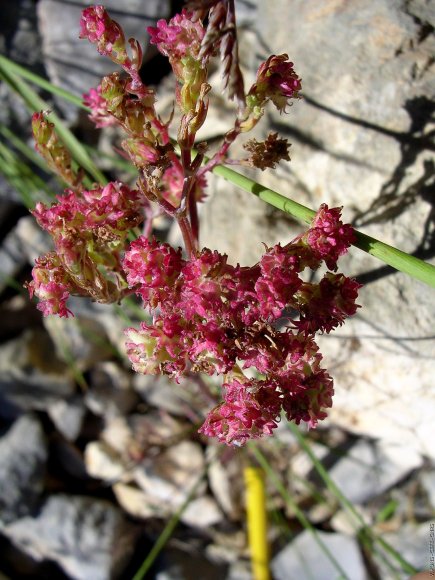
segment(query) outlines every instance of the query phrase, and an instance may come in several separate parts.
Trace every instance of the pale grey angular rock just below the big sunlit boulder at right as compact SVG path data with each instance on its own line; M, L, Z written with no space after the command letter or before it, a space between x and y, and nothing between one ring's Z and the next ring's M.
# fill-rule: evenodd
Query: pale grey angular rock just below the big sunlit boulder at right
M349 501L359 504L380 495L422 462L410 445L359 440L329 470L329 476Z

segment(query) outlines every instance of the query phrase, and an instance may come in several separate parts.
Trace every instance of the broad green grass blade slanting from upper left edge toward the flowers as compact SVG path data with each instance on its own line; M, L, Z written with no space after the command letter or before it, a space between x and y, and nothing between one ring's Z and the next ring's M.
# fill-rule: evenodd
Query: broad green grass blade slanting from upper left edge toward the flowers
M1 77L3 77L5 82L15 93L21 96L30 111L34 112L50 109L49 104L41 99L41 97L22 78L17 77L13 73L10 73L8 70L2 68L1 61L0 72ZM54 123L59 137L69 149L75 161L77 161L77 163L83 167L83 169L85 169L97 182L106 184L106 178L96 167L95 163L88 155L85 147L73 135L68 127L61 121L61 119L55 113L51 113L50 121Z

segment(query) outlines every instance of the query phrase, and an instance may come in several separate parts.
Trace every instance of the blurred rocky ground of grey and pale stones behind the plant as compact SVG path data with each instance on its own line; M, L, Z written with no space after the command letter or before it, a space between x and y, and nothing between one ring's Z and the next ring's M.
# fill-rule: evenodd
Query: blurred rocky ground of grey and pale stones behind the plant
M77 40L82 4L6 1L1 52L85 92L112 68ZM177 3L106 4L146 42L146 26ZM292 162L258 179L311 207L343 205L364 232L433 261L433 6L296 0L290 9L285 0L240 0L237 7L248 78L268 52L288 52L304 81L305 98L289 117L267 119L269 130L292 142ZM145 66L164 113L167 68L152 51ZM25 137L28 112L4 84L0 94L0 123ZM61 100L53 107L79 136L107 147L110 137L91 133L73 107ZM213 144L230 114L222 100L203 138ZM298 228L248 195L211 180L201 215L203 243L246 264L262 241L288 241ZM74 319L40 316L22 284L47 244L0 176L0 576L132 578L189 496L148 577L250 578L243 467L254 458L197 434L213 405L207 384L174 385L130 370L122 331L131 324L126 316L138 319L134 305L121 314L80 300ZM363 307L322 338L336 398L308 438L366 524L415 567L427 567L435 510L433 289L358 250L344 269L365 283ZM409 576L367 547L361 524L285 425L260 448L349 578ZM271 478L267 491L274 577L335 578Z

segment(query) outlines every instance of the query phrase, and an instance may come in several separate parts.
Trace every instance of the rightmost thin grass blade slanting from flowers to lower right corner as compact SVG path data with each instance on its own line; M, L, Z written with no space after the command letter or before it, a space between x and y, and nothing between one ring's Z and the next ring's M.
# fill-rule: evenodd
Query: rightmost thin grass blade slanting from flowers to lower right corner
M322 463L314 455L305 437L302 435L297 426L293 425L290 422L288 422L287 425L290 431L298 440L301 449L303 449L310 458L314 468L316 469L319 476L322 478L327 489L329 489L329 491L337 498L343 509L359 522L359 524L361 525L361 529L364 530L364 532L368 534L368 536L373 541L377 542L380 546L382 546L382 548L396 560L396 562L402 567L404 572L406 572L407 574L416 574L418 570L414 568L412 564L407 562L392 546L390 546L390 544L388 544L388 542L386 542L383 538L378 536L369 526L366 525L363 518L361 517L361 514L354 507L352 502L350 502L347 499L347 497L342 493L342 491L338 488L338 486L329 477L327 470L323 467Z

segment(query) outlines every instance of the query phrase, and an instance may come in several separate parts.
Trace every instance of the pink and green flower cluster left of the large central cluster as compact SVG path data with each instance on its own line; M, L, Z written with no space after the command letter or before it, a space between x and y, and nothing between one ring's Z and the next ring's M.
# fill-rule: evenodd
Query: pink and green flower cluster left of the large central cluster
M128 231L143 221L147 201L118 182L80 193L67 191L58 203L38 203L32 212L50 233L56 252L37 260L28 285L44 315L68 316L70 294L116 302L127 289L121 252Z

